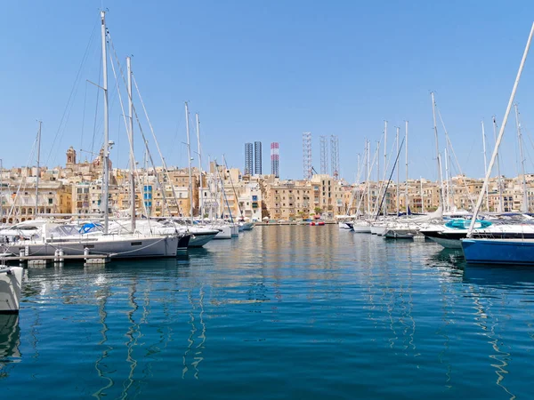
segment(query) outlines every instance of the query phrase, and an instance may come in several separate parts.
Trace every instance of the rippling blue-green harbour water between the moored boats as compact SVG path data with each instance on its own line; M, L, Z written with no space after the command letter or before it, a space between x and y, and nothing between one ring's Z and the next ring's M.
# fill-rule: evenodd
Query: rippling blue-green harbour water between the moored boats
M258 227L178 260L26 271L5 398L533 398L534 270Z

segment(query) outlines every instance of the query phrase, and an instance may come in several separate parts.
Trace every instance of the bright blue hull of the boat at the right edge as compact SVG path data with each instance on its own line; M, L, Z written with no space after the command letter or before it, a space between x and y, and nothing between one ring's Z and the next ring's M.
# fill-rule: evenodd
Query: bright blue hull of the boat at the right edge
M534 266L533 240L463 239L461 243L469 263Z

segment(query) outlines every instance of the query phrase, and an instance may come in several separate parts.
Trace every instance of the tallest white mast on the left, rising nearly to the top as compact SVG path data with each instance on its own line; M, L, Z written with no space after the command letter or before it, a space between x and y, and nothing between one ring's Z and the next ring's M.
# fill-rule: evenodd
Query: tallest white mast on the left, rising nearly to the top
M101 207L104 207L104 234L109 232L109 105L108 105L108 54L106 52L106 12L101 11L102 36L102 89L104 91L104 171Z

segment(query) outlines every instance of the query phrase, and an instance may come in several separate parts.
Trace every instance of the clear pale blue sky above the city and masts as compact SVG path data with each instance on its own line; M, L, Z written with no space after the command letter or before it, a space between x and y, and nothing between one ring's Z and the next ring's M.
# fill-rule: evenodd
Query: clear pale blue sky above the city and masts
M320 135L335 134L341 176L348 181L356 180L365 140L376 148L385 120L389 149L395 127L404 135L404 121L409 121L409 178L437 179L431 92L459 164L452 160L451 173L461 169L482 177L481 121L489 160L491 118L502 123L534 20L531 1L5 3L0 25L4 167L36 164L37 120L43 121L42 164L64 164L69 146L77 149L78 160L93 158L100 148L102 91L92 83L101 83L102 8L118 62L124 68L125 57L132 56L167 165L187 166L188 101L195 166L198 113L204 168L208 157L222 163L224 156L229 167L243 170L245 142L260 140L263 172L269 173L270 144L278 141L280 178L301 179L303 132L312 132L317 171ZM126 101L122 78L119 86ZM516 95L527 172L534 172L533 93L530 54ZM154 161L161 164L135 93L134 106ZM115 166L126 167L129 146L122 114L109 64L111 158ZM439 119L438 125L443 152ZM143 164L137 125L134 131L135 157ZM506 176L520 171L517 143L512 113L500 151ZM404 156L400 163L404 179Z

